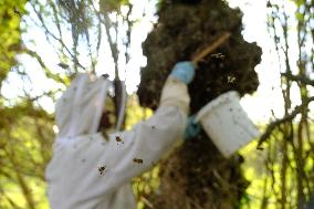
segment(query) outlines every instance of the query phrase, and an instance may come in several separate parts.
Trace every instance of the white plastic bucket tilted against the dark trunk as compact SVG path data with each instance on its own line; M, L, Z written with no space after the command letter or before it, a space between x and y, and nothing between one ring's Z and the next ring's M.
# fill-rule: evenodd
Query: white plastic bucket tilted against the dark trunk
M238 92L230 91L208 103L196 115L196 122L224 157L260 135L240 104Z

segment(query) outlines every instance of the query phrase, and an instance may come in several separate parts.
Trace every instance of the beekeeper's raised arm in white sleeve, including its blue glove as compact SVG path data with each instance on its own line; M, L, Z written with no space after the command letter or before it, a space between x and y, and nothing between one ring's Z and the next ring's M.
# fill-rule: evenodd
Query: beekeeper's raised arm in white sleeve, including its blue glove
M187 84L193 74L192 63L178 63L165 83L156 113L132 130L111 135L106 144L106 150L111 151L105 174L108 190L150 168L177 142L182 140L190 102Z

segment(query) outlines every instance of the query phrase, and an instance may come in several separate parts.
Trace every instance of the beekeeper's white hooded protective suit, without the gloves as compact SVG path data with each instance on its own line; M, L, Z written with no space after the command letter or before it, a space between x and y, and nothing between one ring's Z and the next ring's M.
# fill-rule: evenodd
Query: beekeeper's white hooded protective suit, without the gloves
M129 180L182 138L190 101L186 84L168 77L156 113L108 140L97 133L107 88L106 79L81 74L56 103L60 132L45 170L52 209L135 209Z

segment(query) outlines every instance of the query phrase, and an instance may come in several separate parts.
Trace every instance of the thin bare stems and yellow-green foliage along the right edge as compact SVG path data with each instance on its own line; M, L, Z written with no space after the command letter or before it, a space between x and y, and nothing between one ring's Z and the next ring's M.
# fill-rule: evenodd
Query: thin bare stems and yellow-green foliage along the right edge
M286 10L290 4L294 13ZM281 66L284 114L275 118L261 137L264 142L265 175L260 208L271 200L280 208L304 208L314 189L313 115L313 1L268 1L269 31ZM293 104L293 94L300 97Z

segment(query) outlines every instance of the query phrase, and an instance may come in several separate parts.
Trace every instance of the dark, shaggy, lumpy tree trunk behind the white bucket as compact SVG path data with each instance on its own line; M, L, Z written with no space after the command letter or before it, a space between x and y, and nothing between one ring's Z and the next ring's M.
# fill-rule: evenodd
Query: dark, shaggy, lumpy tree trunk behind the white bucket
M241 35L242 13L221 0L163 1L159 21L144 43L147 66L142 70L138 96L143 106L156 108L160 90L171 67L212 44L226 32L231 38L198 65L189 85L191 114L230 90L241 95L259 85L254 66L261 49ZM190 138L160 164L160 188L150 201L155 208L236 208L248 181L243 158L226 159L202 132Z

